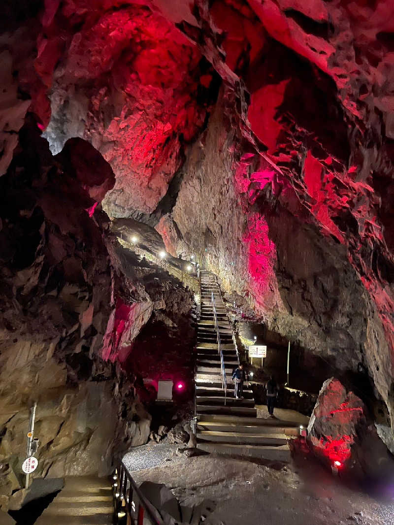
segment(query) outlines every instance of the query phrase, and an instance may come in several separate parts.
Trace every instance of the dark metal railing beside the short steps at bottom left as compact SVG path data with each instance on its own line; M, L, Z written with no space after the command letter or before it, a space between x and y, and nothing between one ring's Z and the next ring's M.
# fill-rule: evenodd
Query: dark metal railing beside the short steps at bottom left
M149 525L164 525L164 521L154 515L150 503L137 487L123 461L119 462L113 481L115 517L119 525L126 525L126 523L143 525L147 521Z

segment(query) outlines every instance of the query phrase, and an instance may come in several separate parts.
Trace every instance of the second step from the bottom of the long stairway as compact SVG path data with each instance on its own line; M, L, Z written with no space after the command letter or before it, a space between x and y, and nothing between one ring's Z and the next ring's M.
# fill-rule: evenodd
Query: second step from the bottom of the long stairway
M238 443L248 445L287 445L287 438L285 434L266 433L254 434L253 432L229 432L223 430L197 430L197 439L202 441L209 441L214 443Z

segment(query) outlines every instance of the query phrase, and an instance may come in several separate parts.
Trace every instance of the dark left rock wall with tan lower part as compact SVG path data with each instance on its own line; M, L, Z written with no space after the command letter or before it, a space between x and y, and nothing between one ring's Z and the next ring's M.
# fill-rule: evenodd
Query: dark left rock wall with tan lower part
M100 205L114 182L82 139L53 158L30 120L0 179L0 508L17 508L25 496L34 402L40 444L32 478L106 475L122 450L148 440L151 416L134 397L134 371L127 377L119 363L165 306L163 289L173 294L169 283L144 282L135 257L123 268ZM177 293L190 309L190 292Z

